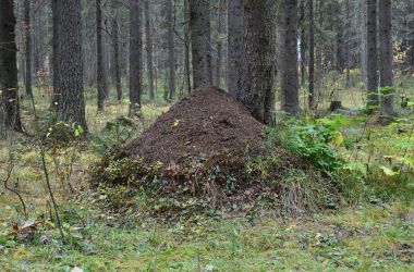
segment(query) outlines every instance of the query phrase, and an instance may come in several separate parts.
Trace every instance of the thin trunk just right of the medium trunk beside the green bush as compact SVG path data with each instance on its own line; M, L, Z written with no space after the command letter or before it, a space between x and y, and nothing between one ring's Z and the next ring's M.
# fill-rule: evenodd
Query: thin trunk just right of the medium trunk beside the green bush
M308 0L307 9L309 13L309 94L308 106L315 107L315 20L314 20L314 0Z

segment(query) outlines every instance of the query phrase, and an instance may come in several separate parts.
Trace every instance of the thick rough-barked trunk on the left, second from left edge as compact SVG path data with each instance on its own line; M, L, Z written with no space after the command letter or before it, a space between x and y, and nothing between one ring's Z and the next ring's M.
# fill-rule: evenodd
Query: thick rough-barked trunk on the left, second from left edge
M53 0L53 103L57 116L87 129L82 61L81 0Z

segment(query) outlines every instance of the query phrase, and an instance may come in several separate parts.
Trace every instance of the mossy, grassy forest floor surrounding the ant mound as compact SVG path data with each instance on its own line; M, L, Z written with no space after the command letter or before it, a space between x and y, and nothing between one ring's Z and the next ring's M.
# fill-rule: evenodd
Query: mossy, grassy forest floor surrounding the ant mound
M404 90L413 97L414 79L405 86ZM47 96L36 92L41 118L47 118L44 109L48 102L41 99ZM356 97L346 95L341 100L345 107L360 108L363 102ZM398 125L383 125L360 115L338 128L342 141L362 143L356 149L363 149L355 152L341 141L334 147L338 156L352 162L346 166L357 171L358 163L372 168L376 163L378 171L361 172L369 174L365 178L370 184L390 188L380 194L360 191L361 196L352 196L353 201L340 208L296 218L206 218L173 224L137 221L123 227L115 214L100 209L98 203L105 196L85 189L90 168L108 147L139 135L169 106L145 103L144 119L132 129L115 121L127 114L126 101L110 100L105 113L96 112L94 101L93 95L87 97L89 140L47 149L46 163L60 207L64 243L56 222L49 220L53 212L39 147L33 138L19 135L0 141L0 181L8 175L12 158L9 186L23 197L28 215L24 218L16 195L1 185L0 271L413 271L413 191L405 184L395 185L395 181L402 183L401 178L395 177L399 173L388 163L402 154L411 163L413 147L406 144L414 139L406 128L412 116L398 121ZM35 122L32 113L26 101L23 118L29 129ZM117 129L105 129L108 122L115 124ZM405 131L395 133L401 129ZM369 135L374 144L365 143L361 135ZM405 182L412 186L412 173L405 174ZM69 191L68 182L74 193ZM367 195L369 199L361 199Z

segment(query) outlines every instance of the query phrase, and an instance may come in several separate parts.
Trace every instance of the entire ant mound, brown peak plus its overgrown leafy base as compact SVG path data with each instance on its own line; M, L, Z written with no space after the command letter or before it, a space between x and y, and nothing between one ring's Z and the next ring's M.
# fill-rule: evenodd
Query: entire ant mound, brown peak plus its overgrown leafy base
M322 172L266 137L242 103L214 87L195 89L141 137L110 150L90 182L104 194L104 207L124 220L167 222L210 212L302 214L324 205L322 191L337 191Z

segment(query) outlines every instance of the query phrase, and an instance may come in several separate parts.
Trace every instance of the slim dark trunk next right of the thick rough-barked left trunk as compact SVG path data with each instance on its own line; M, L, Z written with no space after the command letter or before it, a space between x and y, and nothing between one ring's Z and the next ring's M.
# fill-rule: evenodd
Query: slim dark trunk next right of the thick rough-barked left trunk
M102 0L95 0L96 11L96 59L97 59L97 82L98 82L98 111L105 110L105 99L108 95L108 72L107 55L105 50L104 22L102 22Z

